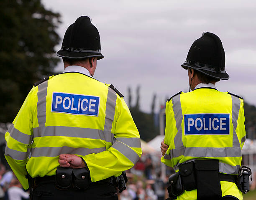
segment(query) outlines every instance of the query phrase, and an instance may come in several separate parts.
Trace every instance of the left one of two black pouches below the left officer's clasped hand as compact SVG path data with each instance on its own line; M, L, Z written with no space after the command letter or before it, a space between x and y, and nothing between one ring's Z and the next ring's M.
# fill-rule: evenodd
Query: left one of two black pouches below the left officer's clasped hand
M72 186L73 168L57 167L55 185L59 190L68 190Z

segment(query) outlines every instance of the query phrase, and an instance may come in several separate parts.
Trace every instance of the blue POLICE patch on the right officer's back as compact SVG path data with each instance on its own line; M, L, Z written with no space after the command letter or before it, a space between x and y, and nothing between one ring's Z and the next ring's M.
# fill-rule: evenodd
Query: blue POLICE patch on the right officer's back
M185 135L229 134L230 114L184 114Z

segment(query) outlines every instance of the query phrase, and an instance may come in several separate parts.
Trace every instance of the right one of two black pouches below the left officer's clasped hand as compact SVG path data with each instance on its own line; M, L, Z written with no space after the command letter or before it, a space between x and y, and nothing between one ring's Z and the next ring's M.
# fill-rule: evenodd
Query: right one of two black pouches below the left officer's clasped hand
M90 186L91 177L88 170L84 168L73 169L74 180L73 188L75 190L85 190Z

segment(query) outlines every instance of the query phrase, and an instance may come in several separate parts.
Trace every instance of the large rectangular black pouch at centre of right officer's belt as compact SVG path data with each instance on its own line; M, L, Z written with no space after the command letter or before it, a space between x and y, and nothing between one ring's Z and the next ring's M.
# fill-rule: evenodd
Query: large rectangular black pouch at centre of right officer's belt
M219 161L195 160L197 175L197 200L216 200L222 197Z

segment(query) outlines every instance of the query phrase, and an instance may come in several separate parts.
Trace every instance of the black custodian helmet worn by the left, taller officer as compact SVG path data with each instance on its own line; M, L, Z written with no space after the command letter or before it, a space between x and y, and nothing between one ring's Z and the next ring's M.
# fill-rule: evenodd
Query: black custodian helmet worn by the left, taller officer
M104 58L100 52L100 34L92 25L91 18L81 16L69 26L62 42L61 50L56 53L62 58Z

